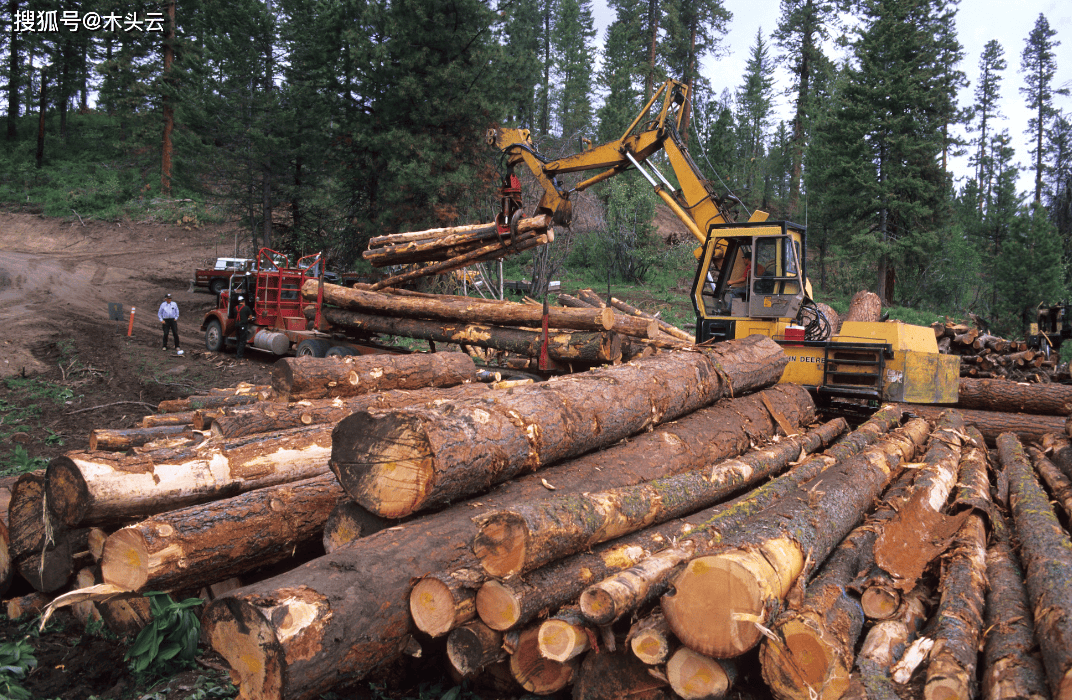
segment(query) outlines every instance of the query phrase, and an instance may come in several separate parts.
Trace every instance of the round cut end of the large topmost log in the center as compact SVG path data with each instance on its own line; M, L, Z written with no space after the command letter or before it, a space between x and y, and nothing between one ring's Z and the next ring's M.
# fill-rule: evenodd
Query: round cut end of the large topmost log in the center
M432 489L434 457L417 416L359 412L332 434L331 468L360 505L383 518L402 518Z

